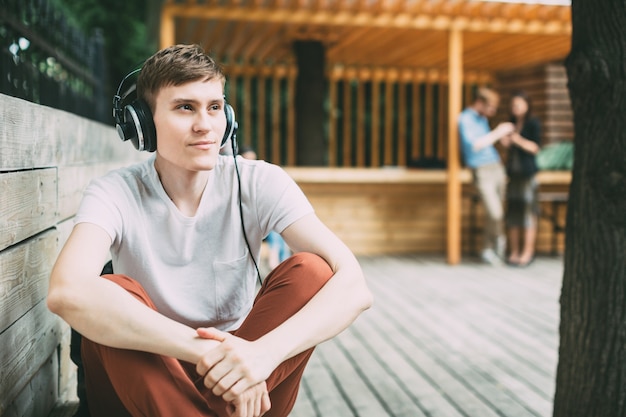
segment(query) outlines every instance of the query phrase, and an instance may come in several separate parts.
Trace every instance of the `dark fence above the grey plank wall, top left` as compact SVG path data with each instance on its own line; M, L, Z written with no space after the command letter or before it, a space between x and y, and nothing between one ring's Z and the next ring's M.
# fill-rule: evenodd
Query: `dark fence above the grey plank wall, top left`
M76 29L51 0L3 0L0 93L111 123L104 40Z

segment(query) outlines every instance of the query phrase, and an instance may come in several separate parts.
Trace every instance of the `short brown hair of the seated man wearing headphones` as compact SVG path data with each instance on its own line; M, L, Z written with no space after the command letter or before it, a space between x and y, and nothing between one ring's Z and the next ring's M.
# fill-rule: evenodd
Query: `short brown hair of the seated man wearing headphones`
M217 78L226 82L222 68L200 45L174 45L146 60L137 79L137 95L154 111L156 96L163 87Z

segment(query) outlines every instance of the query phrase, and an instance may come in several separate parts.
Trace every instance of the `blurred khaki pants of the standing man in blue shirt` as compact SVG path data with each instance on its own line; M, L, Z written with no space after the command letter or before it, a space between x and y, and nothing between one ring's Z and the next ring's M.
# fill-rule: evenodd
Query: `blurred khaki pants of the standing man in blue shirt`
M489 164L473 170L474 185L485 207L485 227L483 249L498 250L504 242L504 208L506 173L504 167Z

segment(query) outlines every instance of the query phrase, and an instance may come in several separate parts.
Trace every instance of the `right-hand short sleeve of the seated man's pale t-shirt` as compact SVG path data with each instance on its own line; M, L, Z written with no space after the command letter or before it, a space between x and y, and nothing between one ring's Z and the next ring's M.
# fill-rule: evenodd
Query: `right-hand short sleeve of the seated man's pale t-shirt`
M296 220L313 213L313 206L302 189L281 167L263 163L257 175L259 223L267 235L282 232Z

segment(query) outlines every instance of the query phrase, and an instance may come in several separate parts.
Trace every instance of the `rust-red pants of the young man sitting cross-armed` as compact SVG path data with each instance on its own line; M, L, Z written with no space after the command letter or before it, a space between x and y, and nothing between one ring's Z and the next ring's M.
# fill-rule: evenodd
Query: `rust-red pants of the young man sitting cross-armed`
M256 340L304 306L332 276L326 262L298 253L267 276L252 311L232 333ZM103 275L151 308L139 283L124 275ZM267 379L272 408L265 416L286 417L313 349L286 360ZM152 353L103 346L83 338L87 398L92 417L226 416L226 403L204 387L195 364Z

